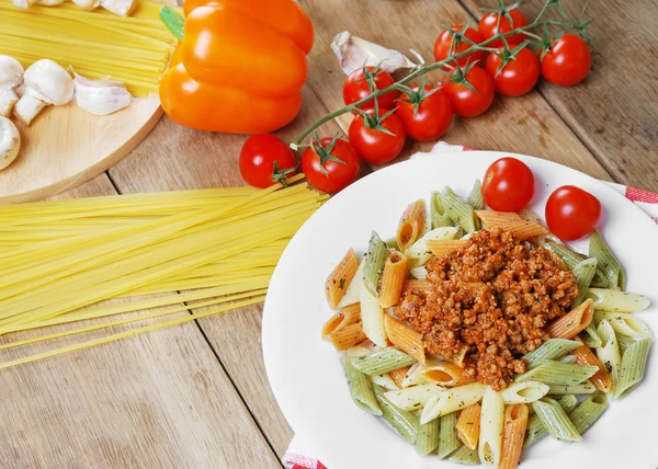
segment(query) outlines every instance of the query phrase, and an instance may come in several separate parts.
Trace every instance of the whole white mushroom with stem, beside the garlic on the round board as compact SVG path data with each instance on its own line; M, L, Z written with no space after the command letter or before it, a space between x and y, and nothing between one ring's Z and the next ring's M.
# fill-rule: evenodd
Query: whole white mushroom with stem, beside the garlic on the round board
M25 125L48 105L61 106L73 98L73 80L49 59L37 60L23 76L26 91L14 107L14 115Z

